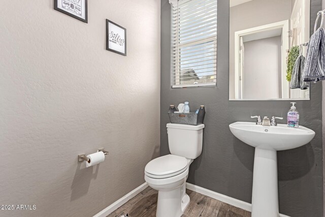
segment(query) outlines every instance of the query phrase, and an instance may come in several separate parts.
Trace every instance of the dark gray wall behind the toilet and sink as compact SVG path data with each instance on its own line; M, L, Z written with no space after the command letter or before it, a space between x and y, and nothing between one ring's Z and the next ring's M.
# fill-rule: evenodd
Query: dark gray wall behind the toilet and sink
M321 0L311 1L311 26ZM172 89L170 86L170 5L161 0L160 154L169 153L166 123L170 104L189 101L206 106L203 152L190 166L188 182L251 202L254 148L235 138L229 124L253 121L250 115L286 117L289 101L229 101L229 1L218 1L217 86ZM310 101L298 101L301 125L315 131L302 147L278 152L280 212L290 216L322 216L321 83L312 84ZM279 121L279 122L285 122Z

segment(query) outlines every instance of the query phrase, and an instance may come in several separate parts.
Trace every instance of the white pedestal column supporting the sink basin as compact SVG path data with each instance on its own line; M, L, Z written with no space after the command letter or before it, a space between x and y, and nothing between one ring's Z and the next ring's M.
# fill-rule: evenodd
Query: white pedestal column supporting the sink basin
M275 150L256 147L253 171L252 217L278 217L278 169Z

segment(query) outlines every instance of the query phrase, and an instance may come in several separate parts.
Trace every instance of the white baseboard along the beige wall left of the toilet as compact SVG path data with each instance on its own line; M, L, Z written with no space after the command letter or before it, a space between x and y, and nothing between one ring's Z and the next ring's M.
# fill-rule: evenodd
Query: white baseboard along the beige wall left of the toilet
M131 200L137 194L139 194L140 192L145 190L147 187L148 187L147 182L141 184L138 188L136 188L132 192L128 193L127 195L123 196L119 200L115 201L114 203L112 203L111 205L109 205L108 207L106 207L105 209L100 211L99 213L95 214L93 217L106 217L107 215L114 212L118 207L122 206L124 203Z

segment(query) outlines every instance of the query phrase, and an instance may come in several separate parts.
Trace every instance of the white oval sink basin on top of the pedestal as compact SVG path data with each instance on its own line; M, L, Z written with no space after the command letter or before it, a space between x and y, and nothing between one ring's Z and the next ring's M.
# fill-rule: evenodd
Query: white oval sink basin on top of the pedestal
M234 136L250 146L277 151L300 147L315 136L315 132L308 128L288 128L282 124L273 127L235 122L229 128Z

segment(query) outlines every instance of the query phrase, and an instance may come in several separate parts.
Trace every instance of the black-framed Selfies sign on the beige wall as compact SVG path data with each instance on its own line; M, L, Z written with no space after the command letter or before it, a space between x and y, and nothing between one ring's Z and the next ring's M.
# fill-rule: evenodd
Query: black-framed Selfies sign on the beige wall
M106 19L106 50L126 56L126 28Z

